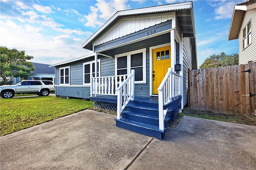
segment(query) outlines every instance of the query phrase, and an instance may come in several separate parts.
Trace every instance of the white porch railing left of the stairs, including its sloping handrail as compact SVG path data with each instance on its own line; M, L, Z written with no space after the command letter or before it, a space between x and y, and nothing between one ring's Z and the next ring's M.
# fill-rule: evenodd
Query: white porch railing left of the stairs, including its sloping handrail
M134 70L131 74L106 77L91 76L92 95L117 95L117 119L129 103L134 100Z

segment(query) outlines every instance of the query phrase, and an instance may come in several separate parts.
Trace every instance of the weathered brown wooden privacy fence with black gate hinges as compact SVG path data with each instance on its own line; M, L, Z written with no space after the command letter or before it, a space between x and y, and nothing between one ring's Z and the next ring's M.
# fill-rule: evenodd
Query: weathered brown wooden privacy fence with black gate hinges
M256 114L256 62L189 70L192 110Z

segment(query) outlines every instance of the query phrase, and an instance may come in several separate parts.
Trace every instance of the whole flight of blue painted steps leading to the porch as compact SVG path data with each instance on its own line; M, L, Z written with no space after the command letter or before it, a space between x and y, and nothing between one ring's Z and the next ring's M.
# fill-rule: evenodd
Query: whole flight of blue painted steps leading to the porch
M166 105L164 130L159 130L158 98L135 98L128 103L126 111L122 111L122 118L115 119L116 126L162 140L170 119L176 117L180 107L181 97Z

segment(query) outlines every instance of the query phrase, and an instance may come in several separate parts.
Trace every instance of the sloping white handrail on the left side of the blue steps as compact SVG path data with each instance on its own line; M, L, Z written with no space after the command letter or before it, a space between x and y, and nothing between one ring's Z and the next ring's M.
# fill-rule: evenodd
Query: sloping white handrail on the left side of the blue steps
M134 70L131 75L117 88L117 119L120 120L121 112L130 100L134 100Z

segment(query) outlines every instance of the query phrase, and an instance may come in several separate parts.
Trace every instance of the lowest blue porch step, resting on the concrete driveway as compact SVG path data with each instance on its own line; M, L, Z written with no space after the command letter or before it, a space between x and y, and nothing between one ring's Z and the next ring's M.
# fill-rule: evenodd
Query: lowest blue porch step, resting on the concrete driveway
M164 130L159 130L157 126L148 125L146 123L140 123L137 121L131 121L124 118L121 118L120 120L115 119L115 121L117 127L131 130L140 134L145 134L147 136L155 137L160 140L164 138L164 134L166 132L166 128Z

